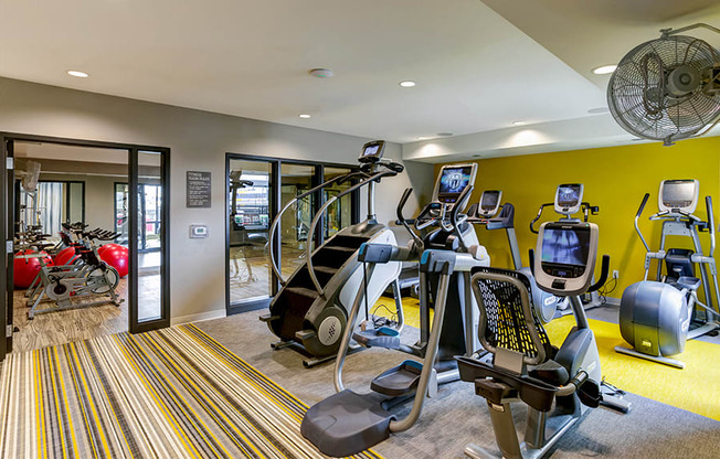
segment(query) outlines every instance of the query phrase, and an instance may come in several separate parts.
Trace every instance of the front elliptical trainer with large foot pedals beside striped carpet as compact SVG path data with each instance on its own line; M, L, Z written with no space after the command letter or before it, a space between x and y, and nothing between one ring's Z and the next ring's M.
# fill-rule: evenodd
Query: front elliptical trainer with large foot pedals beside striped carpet
M359 259L368 276L382 266L420 256L420 339L411 345L401 342L392 329L359 329L354 327L369 292L362 287L352 303L348 324L335 362L337 393L308 409L300 433L321 452L350 456L387 439L391 433L404 431L419 419L425 397L432 397L437 386L457 381L459 373L455 355L472 355L479 350L477 340L477 307L469 286L470 269L489 266L489 257L477 244L473 226L460 212L469 200L477 164L444 166L441 170L433 202L415 218L416 231L430 226L436 230L422 239L402 217L402 206L411 190L406 190L399 206L399 220L412 234L407 246L366 243ZM430 308L434 307L432 327ZM404 352L415 359L378 375L371 392L359 394L346 389L342 367L351 341L367 348L383 348ZM421 361L419 361L421 360ZM406 416L393 414L403 402L412 401Z

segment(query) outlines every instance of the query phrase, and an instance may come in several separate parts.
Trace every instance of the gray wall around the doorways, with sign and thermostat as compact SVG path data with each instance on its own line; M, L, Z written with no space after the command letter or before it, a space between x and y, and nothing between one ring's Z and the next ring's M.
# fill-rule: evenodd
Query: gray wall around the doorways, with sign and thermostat
M225 152L353 163L370 140L7 78L0 78L0 131L171 149L174 322L213 317L225 308ZM389 145L385 156L401 161L400 145ZM424 198L432 192L432 166L405 162L405 167L407 173L379 186L378 214L383 221L394 217L406 186ZM212 172L212 209L186 209L188 170ZM416 198L407 207L417 207ZM189 239L193 223L210 225L210 237Z

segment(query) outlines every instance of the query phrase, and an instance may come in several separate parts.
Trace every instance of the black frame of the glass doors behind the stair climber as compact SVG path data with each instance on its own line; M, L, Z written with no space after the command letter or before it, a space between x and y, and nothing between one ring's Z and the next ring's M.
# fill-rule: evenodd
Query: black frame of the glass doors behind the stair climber
M267 308L272 301L275 293L280 288L280 282L271 269L271 295L267 298L250 298L246 301L240 301L231 303L230 300L230 162L231 161L260 161L266 162L271 166L271 180L269 180L269 222L272 223L277 212L280 209L282 202L282 166L283 164L295 164L295 166L309 166L313 167L315 172L313 174L313 186L317 186L322 183L322 178L325 177L325 168L338 168L338 169L348 169L349 171L356 171L359 169L358 164L342 164L336 162L318 162L309 160L299 160L299 159L285 159L285 158L274 158L274 157L264 157L256 154L241 154L241 153L225 153L225 309L227 316L236 314L241 312L254 311L257 309ZM351 224L360 222L360 193L356 191L352 193L351 199ZM315 214L320 206L325 203L324 193L317 193L313 205L313 214ZM325 221L318 224L315 231L315 241L317 245L320 245L325 242ZM278 228L278 234L282 228ZM308 235L309 237L309 235ZM269 238L269 235L268 235ZM280 250L280 237L274 239L275 244L269 247L275 255L275 260L282 263L282 250ZM269 257L268 257L269 258ZM269 263L269 261L268 261Z

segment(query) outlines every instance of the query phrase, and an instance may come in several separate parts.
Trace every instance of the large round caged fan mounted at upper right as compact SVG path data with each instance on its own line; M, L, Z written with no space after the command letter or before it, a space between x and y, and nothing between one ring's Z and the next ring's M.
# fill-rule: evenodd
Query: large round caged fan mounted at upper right
M720 52L708 42L664 29L617 64L607 86L610 111L626 131L673 145L701 136L720 119Z

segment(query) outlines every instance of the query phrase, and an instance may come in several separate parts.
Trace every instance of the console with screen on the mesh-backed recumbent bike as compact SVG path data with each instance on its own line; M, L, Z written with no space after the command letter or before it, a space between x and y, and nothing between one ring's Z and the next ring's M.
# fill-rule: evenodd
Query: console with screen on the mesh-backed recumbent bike
M592 282L597 257L597 225L546 222L540 226L534 276L542 290L579 295Z

